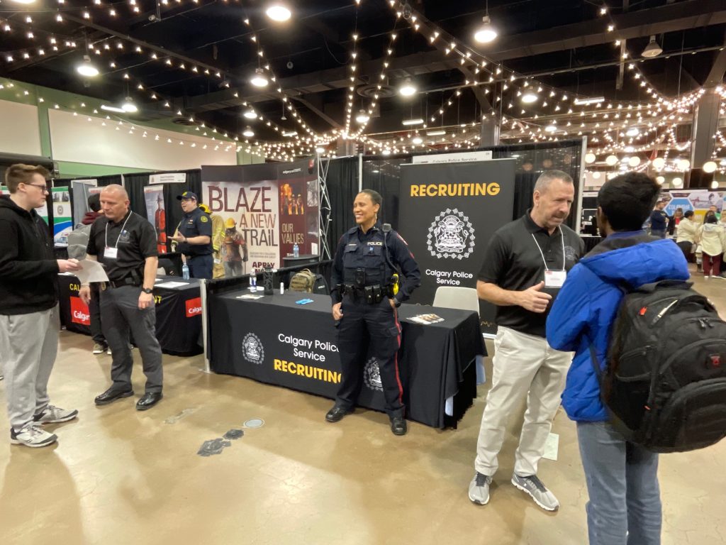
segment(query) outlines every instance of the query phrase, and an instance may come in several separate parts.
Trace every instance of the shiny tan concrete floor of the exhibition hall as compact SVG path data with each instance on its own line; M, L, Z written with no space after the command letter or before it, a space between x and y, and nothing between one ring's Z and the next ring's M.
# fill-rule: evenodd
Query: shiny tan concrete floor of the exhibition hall
M726 280L695 281L726 314ZM542 511L509 483L521 412L492 499L476 506L467 487L488 384L459 429L414 423L395 437L382 413L358 410L327 424L329 400L204 374L200 356L164 356L165 397L150 411L134 410L144 389L138 365L137 395L97 408L111 358L90 349L89 337L62 332L52 403L80 415L48 426L57 445L0 441L0 544L587 543L575 427L561 410L552 429L559 459L539 470L559 512ZM205 440L253 418L264 427L244 429L218 456L197 456ZM8 435L3 415L0 437ZM664 545L726 542L724 459L726 441L661 457Z

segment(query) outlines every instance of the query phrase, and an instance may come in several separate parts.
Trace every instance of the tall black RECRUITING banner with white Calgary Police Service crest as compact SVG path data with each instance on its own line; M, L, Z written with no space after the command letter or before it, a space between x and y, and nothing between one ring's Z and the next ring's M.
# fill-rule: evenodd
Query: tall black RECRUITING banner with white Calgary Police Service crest
M486 246L512 220L513 159L412 164L401 168L399 233L421 270L414 303L432 304L436 288L476 288ZM484 333L494 333L494 307L480 302Z

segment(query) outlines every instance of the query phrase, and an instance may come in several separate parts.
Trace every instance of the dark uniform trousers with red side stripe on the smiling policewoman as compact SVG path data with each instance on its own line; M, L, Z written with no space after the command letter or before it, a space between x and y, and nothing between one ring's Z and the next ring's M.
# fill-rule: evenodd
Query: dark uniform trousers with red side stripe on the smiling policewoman
M340 310L343 318L338 323L338 351L343 378L336 404L346 409L354 408L363 384L365 358L370 353L378 361L386 413L391 417L404 416L398 362L401 346L398 312L391 308L388 297L383 297L380 303L367 304L362 296L353 294L343 297Z

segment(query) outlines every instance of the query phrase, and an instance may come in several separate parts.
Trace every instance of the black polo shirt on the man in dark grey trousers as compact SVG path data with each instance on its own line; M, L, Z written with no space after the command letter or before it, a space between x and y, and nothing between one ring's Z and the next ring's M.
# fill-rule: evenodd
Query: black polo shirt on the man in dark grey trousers
M118 241L118 245L117 245ZM104 257L106 246L118 248L116 259ZM88 254L97 256L104 265L109 280L119 282L136 271L144 280L144 265L147 257L157 257L156 230L147 219L131 210L118 222L102 216L91 225Z

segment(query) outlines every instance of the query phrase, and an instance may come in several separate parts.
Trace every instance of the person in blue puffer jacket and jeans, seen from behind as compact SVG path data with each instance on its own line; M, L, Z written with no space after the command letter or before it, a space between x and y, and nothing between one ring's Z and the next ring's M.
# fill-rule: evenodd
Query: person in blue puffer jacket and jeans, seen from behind
M623 292L666 278L686 280L688 265L671 240L641 229L661 187L645 174L605 182L597 194L597 225L605 240L568 274L547 318L547 342L576 352L562 395L577 423L577 439L590 501L590 545L656 545L661 542L658 455L629 443L608 424L590 359L594 344L600 367Z

